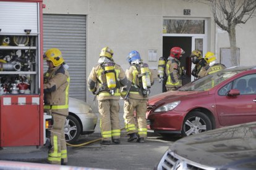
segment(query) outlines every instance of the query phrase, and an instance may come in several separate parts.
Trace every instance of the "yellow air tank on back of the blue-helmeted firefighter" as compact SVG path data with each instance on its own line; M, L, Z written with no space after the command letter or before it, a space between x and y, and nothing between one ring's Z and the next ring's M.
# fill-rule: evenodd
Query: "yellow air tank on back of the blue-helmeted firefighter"
M149 88L151 87L151 81L150 81L150 71L148 69L147 63L142 63L140 65L140 73L142 75L142 87L143 87L143 95L149 94Z

